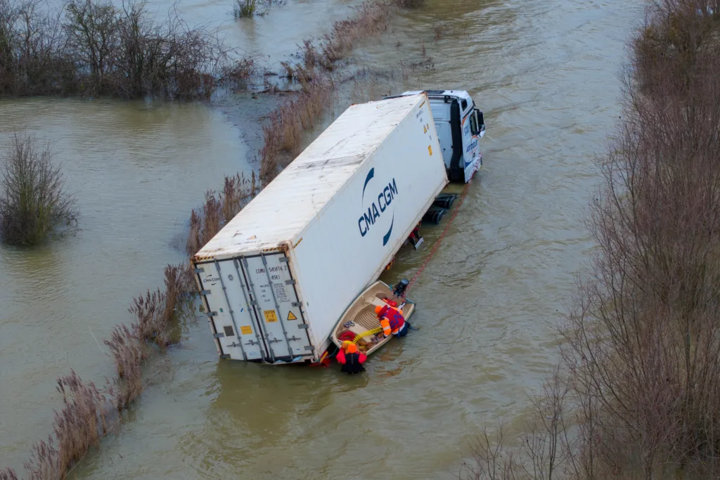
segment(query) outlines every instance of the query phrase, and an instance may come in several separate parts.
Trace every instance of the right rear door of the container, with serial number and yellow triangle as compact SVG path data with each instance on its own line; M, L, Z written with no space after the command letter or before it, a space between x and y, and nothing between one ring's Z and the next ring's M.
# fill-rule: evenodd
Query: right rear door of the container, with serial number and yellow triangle
M271 362L315 356L287 262L282 252L242 258Z

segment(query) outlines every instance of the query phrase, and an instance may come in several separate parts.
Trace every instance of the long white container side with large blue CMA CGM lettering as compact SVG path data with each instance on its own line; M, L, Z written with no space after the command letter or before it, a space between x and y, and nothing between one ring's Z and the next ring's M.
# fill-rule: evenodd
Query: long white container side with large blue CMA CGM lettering
M348 142L364 135L348 132ZM415 98L381 145L301 232L294 247L311 340L325 345L447 184L431 111Z

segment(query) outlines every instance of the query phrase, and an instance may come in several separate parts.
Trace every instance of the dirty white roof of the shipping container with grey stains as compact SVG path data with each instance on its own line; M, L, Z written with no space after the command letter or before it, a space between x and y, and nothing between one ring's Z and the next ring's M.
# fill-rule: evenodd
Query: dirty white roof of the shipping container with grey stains
M349 107L195 256L250 252L292 242L426 96Z

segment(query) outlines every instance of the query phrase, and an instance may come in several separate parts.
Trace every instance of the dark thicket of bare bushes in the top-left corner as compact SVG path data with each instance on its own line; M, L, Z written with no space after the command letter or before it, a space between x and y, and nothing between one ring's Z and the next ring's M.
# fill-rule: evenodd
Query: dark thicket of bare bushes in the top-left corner
M188 27L176 9L156 23L145 1L71 0L53 11L0 0L0 96L207 98L250 74L251 60L230 57L215 32Z

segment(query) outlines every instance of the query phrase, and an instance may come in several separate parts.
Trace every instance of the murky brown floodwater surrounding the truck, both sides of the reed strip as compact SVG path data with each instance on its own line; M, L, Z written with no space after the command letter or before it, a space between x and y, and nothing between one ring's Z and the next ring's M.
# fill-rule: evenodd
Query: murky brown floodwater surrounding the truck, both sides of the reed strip
M225 9L218 5L210 2ZM290 0L277 14L315 12L318 33L350 5ZM598 183L592 158L619 115L618 68L641 8L621 0L431 0L357 50L359 65L392 69L417 58L424 42L434 69L393 88L467 89L485 112L484 167L411 291L420 330L388 344L366 375L348 378L336 364L219 361L200 322L120 433L73 475L451 478L483 417L521 419L526 395L557 361L552 326L592 249L582 227ZM438 19L446 32L435 42ZM236 32L240 42L256 35L242 24L225 28L245 32ZM271 41L269 32L257 35L258 45ZM270 48L267 55L284 52ZM127 320L132 296L161 284L162 266L181 260L170 243L204 189L252 167L242 119L228 122L218 110L0 103L2 145L20 122L57 142L83 228L32 252L0 250L3 466L22 467L32 441L49 432L58 374L75 368L98 383L109 376L112 363L90 329L100 340ZM439 234L428 227L427 247L403 250L384 279L410 278Z

